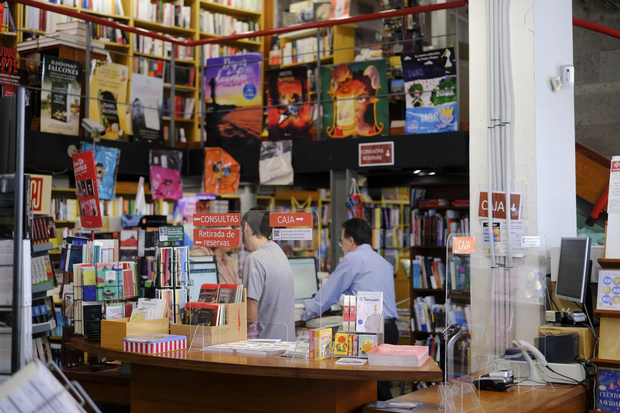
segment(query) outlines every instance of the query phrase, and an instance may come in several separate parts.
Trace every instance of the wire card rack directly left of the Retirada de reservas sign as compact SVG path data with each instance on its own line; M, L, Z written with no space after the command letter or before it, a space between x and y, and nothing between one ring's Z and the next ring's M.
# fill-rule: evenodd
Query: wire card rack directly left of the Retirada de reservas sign
M188 287L191 285L189 248L181 245L158 246L151 272L156 284L156 298L164 298L168 302L170 323L180 323L180 309L185 308L188 302Z

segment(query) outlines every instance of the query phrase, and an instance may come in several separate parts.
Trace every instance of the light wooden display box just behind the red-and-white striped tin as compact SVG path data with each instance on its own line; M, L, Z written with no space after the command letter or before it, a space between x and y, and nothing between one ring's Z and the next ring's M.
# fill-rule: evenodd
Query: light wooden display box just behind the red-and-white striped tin
M101 347L122 350L123 339L146 336L146 334L168 334L169 326L170 320L167 317L131 323L129 317L101 320Z

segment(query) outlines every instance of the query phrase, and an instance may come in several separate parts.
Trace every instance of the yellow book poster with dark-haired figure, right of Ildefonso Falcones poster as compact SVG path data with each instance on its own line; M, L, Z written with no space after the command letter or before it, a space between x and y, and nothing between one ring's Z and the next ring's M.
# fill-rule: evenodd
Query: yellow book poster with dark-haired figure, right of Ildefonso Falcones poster
M91 62L89 118L105 128L105 139L126 139L127 76L124 64L93 59Z

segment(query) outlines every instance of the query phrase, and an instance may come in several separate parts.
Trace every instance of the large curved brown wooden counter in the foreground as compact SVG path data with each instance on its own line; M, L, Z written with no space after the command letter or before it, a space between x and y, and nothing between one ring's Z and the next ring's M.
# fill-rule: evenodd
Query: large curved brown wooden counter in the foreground
M361 412L377 381L441 381L434 360L422 367L335 365L280 355L179 350L156 355L105 349L74 337L85 352L131 363L132 412Z

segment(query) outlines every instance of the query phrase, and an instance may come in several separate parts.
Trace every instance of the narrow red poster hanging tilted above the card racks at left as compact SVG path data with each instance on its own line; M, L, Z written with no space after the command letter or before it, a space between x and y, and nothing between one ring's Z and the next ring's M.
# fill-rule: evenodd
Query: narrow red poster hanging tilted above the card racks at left
M76 178L76 193L78 194L82 228L101 228L97 173L95 172L95 156L92 150L73 154L73 173Z

